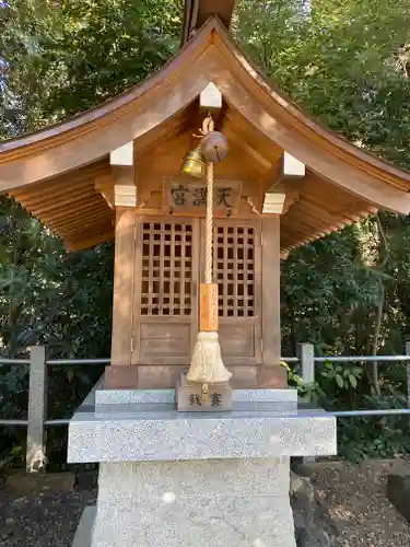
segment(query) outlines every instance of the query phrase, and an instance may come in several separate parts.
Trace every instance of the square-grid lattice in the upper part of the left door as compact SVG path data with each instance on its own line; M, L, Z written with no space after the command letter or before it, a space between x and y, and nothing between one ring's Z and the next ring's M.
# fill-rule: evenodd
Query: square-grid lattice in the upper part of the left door
M192 225L143 222L141 315L190 316Z

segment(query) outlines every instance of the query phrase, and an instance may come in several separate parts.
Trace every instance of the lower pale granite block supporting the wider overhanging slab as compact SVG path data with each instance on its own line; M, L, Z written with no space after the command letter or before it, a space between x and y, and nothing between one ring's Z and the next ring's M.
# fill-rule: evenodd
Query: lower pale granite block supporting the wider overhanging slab
M289 458L102 464L92 547L295 547Z

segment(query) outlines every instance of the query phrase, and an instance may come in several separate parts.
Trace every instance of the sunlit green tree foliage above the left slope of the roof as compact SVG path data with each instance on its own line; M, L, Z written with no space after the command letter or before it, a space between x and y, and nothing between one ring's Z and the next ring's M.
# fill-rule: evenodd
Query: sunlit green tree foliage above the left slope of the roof
M140 82L176 51L179 28L177 0L0 4L3 133L73 116Z

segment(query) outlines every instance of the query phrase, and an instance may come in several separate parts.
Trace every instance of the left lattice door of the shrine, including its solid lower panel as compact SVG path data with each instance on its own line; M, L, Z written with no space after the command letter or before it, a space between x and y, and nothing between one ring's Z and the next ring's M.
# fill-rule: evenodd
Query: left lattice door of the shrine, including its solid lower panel
M184 364L198 328L198 221L145 218L140 240L138 361Z

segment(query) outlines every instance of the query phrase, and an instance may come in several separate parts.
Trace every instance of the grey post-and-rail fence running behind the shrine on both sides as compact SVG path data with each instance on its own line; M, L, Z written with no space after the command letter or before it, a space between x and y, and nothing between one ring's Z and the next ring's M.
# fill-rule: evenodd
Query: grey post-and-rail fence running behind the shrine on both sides
M325 362L349 363L349 362L379 362L379 363L406 363L408 407L391 409L371 410L337 410L331 411L337 418L377 417L410 415L410 342L406 344L403 356L328 356L316 357L312 344L300 344L297 357L282 357L281 360L288 364L298 364L302 377L306 384L315 382L315 365ZM30 473L45 470L46 450L45 430L47 427L68 426L69 418L47 419L47 368L48 366L78 366L78 365L105 365L109 359L47 359L46 348L33 346L30 348L30 359L0 359L0 368L27 365L30 376L28 388L28 417L26 420L0 419L0 427L24 427L27 428L26 469Z

